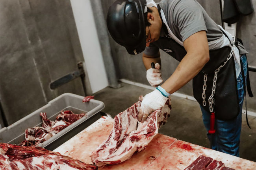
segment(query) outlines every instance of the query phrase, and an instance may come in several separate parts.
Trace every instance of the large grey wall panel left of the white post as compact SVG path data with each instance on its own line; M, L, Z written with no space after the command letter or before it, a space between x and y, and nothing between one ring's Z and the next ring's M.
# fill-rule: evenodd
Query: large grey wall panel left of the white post
M8 124L62 93L85 95L80 78L55 90L49 87L83 61L70 1L0 3L0 92Z

